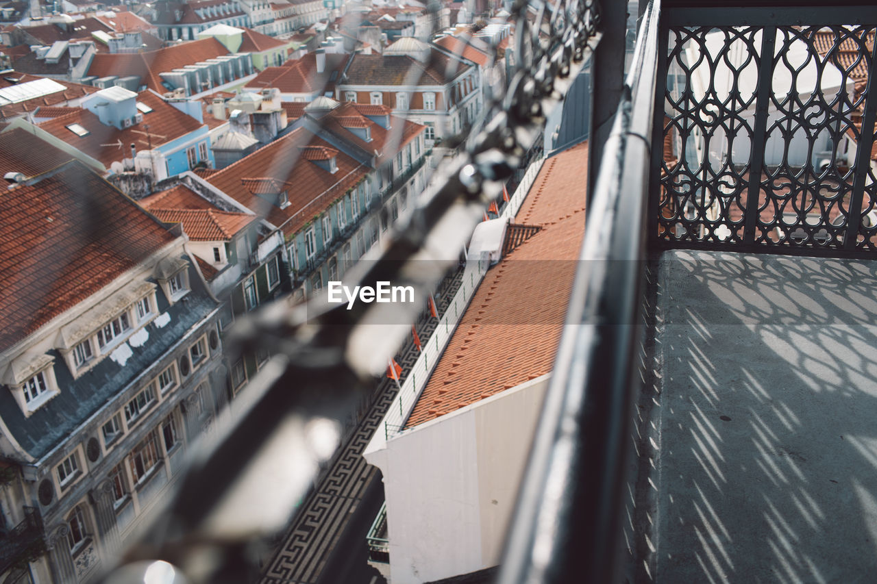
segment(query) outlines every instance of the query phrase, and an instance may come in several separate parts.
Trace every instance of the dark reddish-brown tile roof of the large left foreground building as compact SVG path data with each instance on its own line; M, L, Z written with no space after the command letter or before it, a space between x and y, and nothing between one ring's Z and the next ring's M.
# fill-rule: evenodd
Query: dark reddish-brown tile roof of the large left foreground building
M0 201L0 351L175 240L78 162Z

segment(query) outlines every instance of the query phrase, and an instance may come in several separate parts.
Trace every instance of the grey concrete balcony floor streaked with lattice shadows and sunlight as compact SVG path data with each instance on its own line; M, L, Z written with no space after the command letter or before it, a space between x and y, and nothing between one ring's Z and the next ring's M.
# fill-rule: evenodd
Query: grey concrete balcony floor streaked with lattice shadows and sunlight
M877 581L877 262L660 260L650 576Z

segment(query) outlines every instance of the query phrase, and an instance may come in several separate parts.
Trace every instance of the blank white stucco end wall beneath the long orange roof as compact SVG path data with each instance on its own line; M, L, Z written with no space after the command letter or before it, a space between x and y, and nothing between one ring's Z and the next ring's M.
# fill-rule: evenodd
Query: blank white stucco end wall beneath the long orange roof
M393 584L499 563L549 376L391 438L383 473Z

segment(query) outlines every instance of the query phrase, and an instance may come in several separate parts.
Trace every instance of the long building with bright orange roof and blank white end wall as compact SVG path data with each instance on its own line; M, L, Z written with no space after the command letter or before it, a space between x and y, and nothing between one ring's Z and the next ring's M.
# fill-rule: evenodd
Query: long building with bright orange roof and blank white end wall
M546 159L514 219L475 229L470 261L488 251L495 265L417 396L406 401L403 389L390 405L390 424L404 408L401 430L389 424L366 448L386 496L373 536L386 543L371 563L392 584L500 562L573 287L586 160L586 143Z

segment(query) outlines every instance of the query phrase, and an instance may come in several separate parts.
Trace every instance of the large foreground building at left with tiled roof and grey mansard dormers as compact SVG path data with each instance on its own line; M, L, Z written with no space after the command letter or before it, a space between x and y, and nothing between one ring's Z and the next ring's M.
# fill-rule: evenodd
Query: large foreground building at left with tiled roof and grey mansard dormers
M85 582L222 402L217 303L182 231L79 161L19 176L0 218L0 573Z

